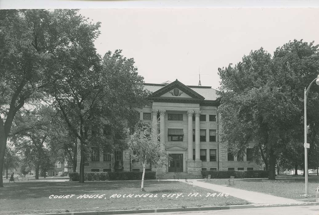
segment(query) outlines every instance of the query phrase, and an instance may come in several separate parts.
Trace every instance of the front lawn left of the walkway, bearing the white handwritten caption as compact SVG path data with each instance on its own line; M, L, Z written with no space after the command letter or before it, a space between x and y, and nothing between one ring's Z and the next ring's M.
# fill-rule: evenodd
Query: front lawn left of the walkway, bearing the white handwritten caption
M212 190L187 186L182 182L145 181L145 192L140 191L141 181L103 182L18 182L6 183L0 188L0 214L49 213L73 211L104 211L152 208L181 208L249 204L246 200L228 197L206 197ZM162 197L179 193L179 198ZM199 193L196 197L189 193ZM215 192L219 193L219 192ZM52 198L50 195L75 195L69 198ZM77 198L80 195L102 195L102 198ZM134 194L134 197L115 197L113 194ZM157 197L135 197L136 194L157 194ZM201 195L201 196L199 196ZM10 211L10 212L8 212Z

